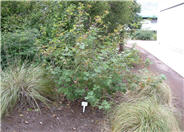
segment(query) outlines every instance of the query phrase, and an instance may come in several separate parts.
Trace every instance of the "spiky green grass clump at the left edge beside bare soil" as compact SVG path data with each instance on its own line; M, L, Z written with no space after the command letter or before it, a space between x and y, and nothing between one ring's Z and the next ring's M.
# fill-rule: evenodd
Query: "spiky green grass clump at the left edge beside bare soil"
M39 109L38 101L48 105L53 83L40 66L13 65L1 72L1 116L15 105L29 104Z

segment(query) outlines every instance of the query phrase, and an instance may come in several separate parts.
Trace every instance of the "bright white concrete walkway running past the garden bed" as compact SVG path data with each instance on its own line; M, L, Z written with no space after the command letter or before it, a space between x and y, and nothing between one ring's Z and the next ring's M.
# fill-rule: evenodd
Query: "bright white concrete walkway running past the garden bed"
M168 46L162 46L157 41L130 40L128 44L137 46L148 51L156 58L164 62L179 75L184 77L184 53Z

